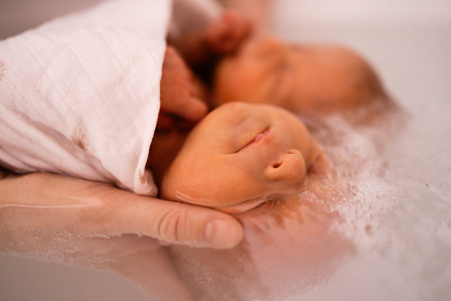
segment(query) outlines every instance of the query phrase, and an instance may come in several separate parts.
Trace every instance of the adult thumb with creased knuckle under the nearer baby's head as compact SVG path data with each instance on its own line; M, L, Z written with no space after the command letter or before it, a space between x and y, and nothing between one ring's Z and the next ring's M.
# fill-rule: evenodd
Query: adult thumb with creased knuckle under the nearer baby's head
M121 198L118 201L122 208L115 210L115 218L110 219L110 226L116 228L114 234L134 233L214 249L233 248L243 239L238 220L217 210L132 194Z

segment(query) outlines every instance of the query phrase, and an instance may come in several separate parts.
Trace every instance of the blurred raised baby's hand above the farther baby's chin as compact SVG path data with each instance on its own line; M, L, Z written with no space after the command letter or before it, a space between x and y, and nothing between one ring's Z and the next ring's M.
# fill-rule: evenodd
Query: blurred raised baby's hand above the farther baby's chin
M199 67L224 54L231 53L251 34L251 22L233 10L222 15L207 26L183 33L169 41L180 51L193 67Z

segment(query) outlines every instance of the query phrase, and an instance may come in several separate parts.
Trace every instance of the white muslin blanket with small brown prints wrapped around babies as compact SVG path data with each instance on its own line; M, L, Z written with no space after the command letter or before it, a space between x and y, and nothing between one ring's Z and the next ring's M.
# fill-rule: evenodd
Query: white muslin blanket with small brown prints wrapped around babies
M154 196L170 0L113 0L0 42L0 164Z

